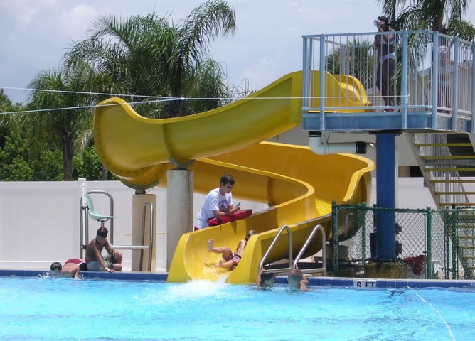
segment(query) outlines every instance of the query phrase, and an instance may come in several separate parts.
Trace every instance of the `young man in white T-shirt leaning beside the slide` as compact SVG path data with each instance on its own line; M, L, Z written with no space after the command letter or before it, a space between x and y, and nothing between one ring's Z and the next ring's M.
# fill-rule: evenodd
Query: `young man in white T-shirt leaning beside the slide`
M234 186L233 175L225 174L221 177L220 187L211 190L206 195L201 210L195 220L194 231L208 227L208 219L212 217L223 217L224 215L232 215L240 210L239 204L233 205L233 195L231 190Z

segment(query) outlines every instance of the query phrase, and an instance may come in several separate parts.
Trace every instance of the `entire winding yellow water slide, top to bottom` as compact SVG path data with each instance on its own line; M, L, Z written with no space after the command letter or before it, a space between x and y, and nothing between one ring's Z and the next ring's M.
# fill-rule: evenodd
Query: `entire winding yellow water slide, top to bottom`
M312 78L319 93L319 77ZM326 82L333 89L338 85L331 75ZM351 89L340 86L341 94ZM301 72L293 72L233 104L173 119L146 119L117 98L97 105L97 155L129 187L166 186L166 171L184 165L193 170L196 193L208 193L223 173L232 173L236 202L241 198L269 204L269 209L244 220L183 234L168 281L226 276L228 283L252 283L279 227L287 224L292 230L295 256L316 224L322 224L327 235L331 232L332 201L368 200L374 164L367 158L318 156L308 147L262 142L301 123L301 87ZM342 105L367 107L364 89L358 87L358 96ZM258 234L251 237L239 266L233 272L215 269L219 255L208 253L208 239L213 238L215 246L234 248L250 229ZM304 256L320 248L317 240ZM286 259L288 250L287 236L282 237L267 260Z

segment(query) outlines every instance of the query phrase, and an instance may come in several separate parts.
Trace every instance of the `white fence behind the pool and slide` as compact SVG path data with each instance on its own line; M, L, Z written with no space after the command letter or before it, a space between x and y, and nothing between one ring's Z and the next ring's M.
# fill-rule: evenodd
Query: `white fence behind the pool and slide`
M373 179L374 180L374 179ZM114 244L132 244L132 195L134 190L119 181L86 182L86 190L104 190L114 198ZM156 194L156 271L166 271L166 189ZM422 178L400 178L398 207L434 207ZM194 196L194 214L203 195ZM80 198L78 182L0 182L0 269L49 269L53 261L63 263L80 256ZM235 198L239 200L239 198ZM109 199L95 195L97 212L108 214ZM240 200L255 212L267 205ZM376 202L375 185L370 204ZM108 224L106 223L108 227ZM89 220L90 236L100 224ZM203 245L203 247L206 247ZM131 269L131 251L122 250L124 271Z

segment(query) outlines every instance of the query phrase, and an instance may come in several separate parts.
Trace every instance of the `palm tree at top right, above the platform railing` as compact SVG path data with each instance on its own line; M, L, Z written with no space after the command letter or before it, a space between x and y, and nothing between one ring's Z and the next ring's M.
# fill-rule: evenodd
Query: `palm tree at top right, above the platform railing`
M383 4L383 13L393 21L397 31L437 31L463 40L475 40L475 28L464 20L470 0L378 0ZM396 9L401 8L396 15Z

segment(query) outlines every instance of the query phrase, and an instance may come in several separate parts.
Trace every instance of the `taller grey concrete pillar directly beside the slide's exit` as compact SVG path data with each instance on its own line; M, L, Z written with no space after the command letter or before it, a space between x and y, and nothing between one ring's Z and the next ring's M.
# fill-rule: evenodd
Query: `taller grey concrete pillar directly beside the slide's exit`
M170 269L181 235L193 231L193 171L166 173L166 269Z

